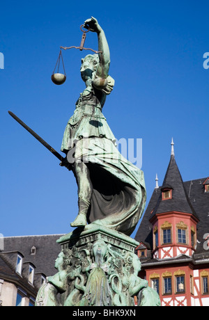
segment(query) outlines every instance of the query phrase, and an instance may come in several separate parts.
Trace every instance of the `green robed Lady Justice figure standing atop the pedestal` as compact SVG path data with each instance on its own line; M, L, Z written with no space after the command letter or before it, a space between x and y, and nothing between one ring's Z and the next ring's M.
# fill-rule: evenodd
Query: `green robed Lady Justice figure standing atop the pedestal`
M99 54L82 59L80 71L86 88L76 102L61 145L66 154L61 166L72 170L78 186L79 212L70 225L98 223L130 235L144 211L144 173L118 152L116 138L102 114L114 87L104 31L93 17L84 22L84 28L98 34Z

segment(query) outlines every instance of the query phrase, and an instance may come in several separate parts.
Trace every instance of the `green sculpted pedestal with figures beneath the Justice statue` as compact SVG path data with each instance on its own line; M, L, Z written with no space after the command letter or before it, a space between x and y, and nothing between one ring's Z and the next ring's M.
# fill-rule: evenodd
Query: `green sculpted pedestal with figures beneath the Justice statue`
M134 306L134 297L138 305L145 300L160 305L157 293L138 277L141 264L134 249L139 243L134 239L91 223L57 242L58 273L42 285L36 305Z

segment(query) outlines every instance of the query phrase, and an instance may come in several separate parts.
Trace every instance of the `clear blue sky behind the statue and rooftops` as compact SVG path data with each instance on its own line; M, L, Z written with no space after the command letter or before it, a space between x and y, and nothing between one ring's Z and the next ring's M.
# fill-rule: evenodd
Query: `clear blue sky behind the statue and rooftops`
M171 138L183 180L208 177L208 1L3 1L0 52L0 233L5 237L72 231L72 173L8 115L15 113L58 152L84 82L81 58L63 52L67 80L50 77L59 47L79 46L79 26L96 17L109 42L116 81L103 113L116 138L142 138L148 200L169 164ZM95 33L85 47L98 49ZM148 202L147 202L148 203ZM137 232L137 229L132 234Z

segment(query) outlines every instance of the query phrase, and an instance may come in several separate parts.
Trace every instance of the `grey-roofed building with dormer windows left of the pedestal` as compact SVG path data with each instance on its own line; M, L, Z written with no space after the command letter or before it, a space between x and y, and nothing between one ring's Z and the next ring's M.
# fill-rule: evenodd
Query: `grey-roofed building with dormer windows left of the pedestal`
M0 305L33 306L61 250L61 234L1 238Z

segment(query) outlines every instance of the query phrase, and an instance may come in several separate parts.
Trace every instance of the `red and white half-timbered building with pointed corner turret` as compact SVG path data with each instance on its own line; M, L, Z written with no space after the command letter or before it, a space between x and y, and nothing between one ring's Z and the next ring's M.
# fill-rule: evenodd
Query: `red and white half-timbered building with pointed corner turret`
M156 185L135 239L139 276L162 306L209 305L209 178L183 182L173 143L164 182Z

